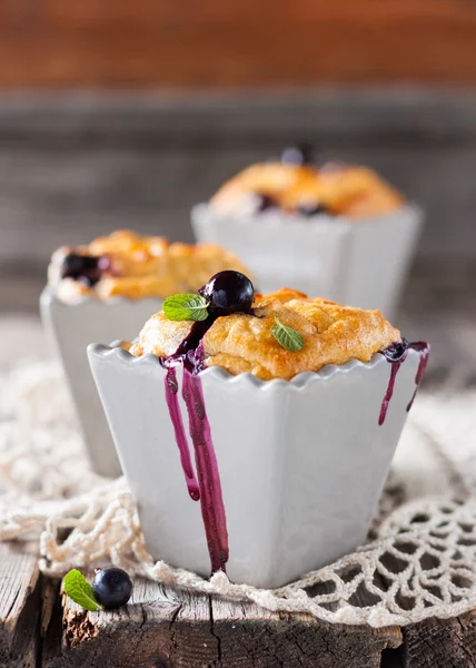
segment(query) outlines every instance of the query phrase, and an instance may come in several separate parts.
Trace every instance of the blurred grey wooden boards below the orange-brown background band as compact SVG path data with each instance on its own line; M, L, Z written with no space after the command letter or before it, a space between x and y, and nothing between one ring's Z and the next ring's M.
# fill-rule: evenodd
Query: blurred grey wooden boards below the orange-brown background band
M476 95L32 95L0 100L0 272L118 228L192 240L190 208L296 141L366 164L427 212L418 257L474 262Z

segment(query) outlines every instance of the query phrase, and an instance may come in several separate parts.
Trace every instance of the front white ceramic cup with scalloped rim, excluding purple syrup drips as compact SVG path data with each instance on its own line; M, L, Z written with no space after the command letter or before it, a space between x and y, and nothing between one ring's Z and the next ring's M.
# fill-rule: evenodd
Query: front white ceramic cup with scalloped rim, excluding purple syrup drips
M153 355L133 357L121 348L91 345L88 355L150 553L208 577L201 500L187 489L167 403L168 371ZM419 367L420 355L409 350L381 425L394 369L381 354L289 382L218 367L196 376L218 465L232 581L277 588L363 544ZM188 435L187 372L176 372ZM190 461L195 466L191 443Z

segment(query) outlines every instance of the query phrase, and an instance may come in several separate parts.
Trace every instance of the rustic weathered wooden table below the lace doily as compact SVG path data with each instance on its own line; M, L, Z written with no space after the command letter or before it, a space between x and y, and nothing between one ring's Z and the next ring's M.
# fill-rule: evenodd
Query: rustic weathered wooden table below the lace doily
M272 613L137 579L131 602L88 613L28 546L0 547L0 666L9 668L449 668L476 665L476 613L399 628Z

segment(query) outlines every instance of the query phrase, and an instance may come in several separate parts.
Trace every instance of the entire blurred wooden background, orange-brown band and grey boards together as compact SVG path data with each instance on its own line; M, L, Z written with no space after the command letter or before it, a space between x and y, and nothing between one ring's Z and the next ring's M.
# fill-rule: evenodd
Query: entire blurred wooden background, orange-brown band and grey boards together
M192 240L194 204L303 140L425 207L419 267L474 264L476 0L0 0L0 310L63 243Z

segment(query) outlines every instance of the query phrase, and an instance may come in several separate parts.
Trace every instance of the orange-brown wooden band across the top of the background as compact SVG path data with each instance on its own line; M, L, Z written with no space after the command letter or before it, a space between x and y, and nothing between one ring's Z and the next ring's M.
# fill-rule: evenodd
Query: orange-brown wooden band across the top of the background
M2 0L0 87L474 84L475 0Z

